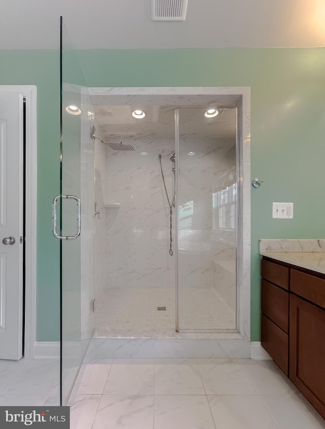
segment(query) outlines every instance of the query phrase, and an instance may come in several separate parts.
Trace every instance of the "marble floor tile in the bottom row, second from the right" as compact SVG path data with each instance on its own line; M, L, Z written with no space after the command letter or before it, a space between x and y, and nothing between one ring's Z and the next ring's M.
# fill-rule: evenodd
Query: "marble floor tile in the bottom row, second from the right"
M217 428L277 429L257 395L208 396L208 401Z

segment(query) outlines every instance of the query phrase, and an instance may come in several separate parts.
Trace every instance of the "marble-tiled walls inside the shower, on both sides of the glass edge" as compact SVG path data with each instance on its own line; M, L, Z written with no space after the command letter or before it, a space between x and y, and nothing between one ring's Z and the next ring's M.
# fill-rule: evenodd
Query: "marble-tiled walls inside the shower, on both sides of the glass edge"
M123 142L138 149L113 151L96 141L96 201L101 211L101 218L95 220L96 261L103 261L96 264L96 296L105 288L175 287L175 259L169 255L169 206L158 161L161 153L172 197L169 157L174 139ZM188 148L195 145L196 156L188 156ZM235 139L181 139L179 204L186 207L193 201L191 226L186 227L185 222L180 232L181 287L212 287L214 261L235 261L235 231L217 227L213 208L213 194L235 182L235 166ZM104 203L121 206L105 208Z

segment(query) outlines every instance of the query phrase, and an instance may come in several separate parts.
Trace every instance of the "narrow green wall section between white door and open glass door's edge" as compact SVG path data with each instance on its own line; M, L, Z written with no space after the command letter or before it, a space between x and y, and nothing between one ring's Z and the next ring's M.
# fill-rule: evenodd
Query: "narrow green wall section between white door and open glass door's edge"
M59 55L0 51L0 85L37 86L37 340L59 339L59 241L52 200L59 193Z

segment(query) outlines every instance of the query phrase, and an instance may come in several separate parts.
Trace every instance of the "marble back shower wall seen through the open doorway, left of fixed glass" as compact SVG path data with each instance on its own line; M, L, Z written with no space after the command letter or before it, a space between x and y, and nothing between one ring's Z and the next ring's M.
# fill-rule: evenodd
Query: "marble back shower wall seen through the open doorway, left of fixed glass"
M169 255L169 206L174 192L174 139L123 139L136 151L107 150L107 286L109 288L174 288L175 258ZM147 152L147 155L141 155ZM175 216L173 215L173 223ZM175 223L174 223L175 224ZM174 234L173 234L174 238Z

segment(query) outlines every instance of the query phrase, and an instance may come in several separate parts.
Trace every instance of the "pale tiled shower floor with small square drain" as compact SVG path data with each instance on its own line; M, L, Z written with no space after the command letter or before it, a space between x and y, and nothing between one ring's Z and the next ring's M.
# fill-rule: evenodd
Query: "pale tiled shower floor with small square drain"
M166 310L157 310L166 307ZM179 292L180 329L235 329L235 311L212 288L186 288ZM96 329L110 332L175 329L175 290L106 289L96 302Z

